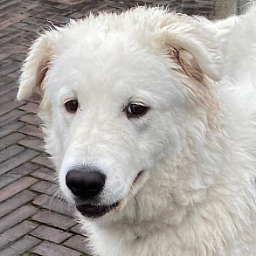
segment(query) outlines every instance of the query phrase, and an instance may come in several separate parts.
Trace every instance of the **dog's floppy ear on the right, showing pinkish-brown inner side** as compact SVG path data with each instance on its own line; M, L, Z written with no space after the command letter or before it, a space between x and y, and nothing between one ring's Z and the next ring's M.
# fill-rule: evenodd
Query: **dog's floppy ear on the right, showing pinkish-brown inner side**
M170 15L161 25L161 44L190 76L201 71L211 80L222 76L223 55L213 32L193 17Z

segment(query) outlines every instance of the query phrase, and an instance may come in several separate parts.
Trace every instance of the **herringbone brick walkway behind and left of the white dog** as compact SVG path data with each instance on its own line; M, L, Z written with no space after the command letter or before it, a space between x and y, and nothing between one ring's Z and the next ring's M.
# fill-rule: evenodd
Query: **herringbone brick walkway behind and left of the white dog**
M86 1L68 5L48 0L0 0L0 255L87 255L80 226L53 183L44 153L38 95L16 101L17 78L38 31L99 10L135 4L164 4L171 10L211 17L214 0ZM52 198L52 196L54 196ZM111 255L109 255L111 256ZM139 255L138 255L139 256Z

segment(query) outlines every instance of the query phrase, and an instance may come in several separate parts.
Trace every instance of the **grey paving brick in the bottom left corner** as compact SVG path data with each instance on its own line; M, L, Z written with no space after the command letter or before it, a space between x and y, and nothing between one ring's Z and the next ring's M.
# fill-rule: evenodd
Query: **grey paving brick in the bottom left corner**
M41 240L25 235L22 239L17 240L7 248L0 250L0 255L17 256L22 255L34 246L37 246Z

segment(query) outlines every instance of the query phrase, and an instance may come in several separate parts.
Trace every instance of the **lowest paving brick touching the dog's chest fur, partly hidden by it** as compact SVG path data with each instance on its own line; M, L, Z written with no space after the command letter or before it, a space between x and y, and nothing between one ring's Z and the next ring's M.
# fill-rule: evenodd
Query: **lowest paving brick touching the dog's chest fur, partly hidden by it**
M70 239L68 239L65 243L63 243L64 246L73 248L77 251L86 253L91 255L93 252L89 247L89 241L85 237L82 237L80 235L76 235Z

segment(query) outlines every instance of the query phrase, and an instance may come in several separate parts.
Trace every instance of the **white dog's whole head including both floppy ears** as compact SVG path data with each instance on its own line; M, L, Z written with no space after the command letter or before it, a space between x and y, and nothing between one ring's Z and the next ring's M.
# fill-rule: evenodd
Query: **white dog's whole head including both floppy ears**
M17 99L39 87L60 187L96 218L161 176L156 165L179 155L188 127L204 140L215 107L208 80L220 69L211 31L190 17L137 8L46 31L24 62Z

